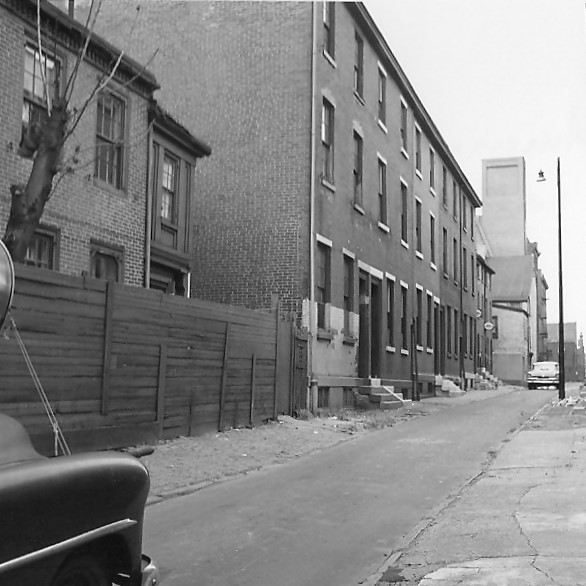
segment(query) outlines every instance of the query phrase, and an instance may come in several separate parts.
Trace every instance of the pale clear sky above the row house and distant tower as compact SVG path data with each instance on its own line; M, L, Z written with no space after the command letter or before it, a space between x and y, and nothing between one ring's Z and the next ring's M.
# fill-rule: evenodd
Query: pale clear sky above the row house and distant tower
M483 159L525 158L527 236L541 253L549 323L559 315L560 158L564 322L586 336L584 0L364 4L481 198Z

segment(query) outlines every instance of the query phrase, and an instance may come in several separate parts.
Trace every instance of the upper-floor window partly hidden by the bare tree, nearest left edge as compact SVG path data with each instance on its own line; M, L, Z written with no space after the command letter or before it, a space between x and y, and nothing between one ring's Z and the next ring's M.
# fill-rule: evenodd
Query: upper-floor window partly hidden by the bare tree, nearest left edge
M47 120L47 94L53 103L60 95L60 84L61 62L45 51L41 57L38 47L27 43L24 48L23 137L29 124L43 124Z

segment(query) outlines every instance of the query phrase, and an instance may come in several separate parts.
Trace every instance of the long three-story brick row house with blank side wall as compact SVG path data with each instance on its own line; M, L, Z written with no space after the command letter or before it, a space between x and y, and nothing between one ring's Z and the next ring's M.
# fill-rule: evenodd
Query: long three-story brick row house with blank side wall
M215 145L195 295L268 309L277 294L308 332L314 407L473 378L481 202L362 3L167 0L135 18L105 0L102 15L120 42L134 23L141 59L160 49L165 103Z

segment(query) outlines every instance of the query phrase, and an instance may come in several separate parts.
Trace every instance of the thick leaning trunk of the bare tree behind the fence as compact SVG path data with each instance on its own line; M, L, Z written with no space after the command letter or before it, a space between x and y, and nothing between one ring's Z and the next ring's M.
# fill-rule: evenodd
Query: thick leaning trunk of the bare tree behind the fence
M10 217L4 233L4 244L14 262L24 262L26 250L39 225L45 204L51 195L53 178L63 148L67 126L66 104L57 101L42 129L33 168L26 186L11 185Z

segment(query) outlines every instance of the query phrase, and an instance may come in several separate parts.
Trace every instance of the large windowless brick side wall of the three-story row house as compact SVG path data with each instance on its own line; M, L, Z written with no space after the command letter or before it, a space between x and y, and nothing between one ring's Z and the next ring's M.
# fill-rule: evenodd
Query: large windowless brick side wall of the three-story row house
M157 100L212 147L195 174L193 295L266 309L278 293L297 312L308 295L311 4L106 0L99 26L143 62L158 49Z

